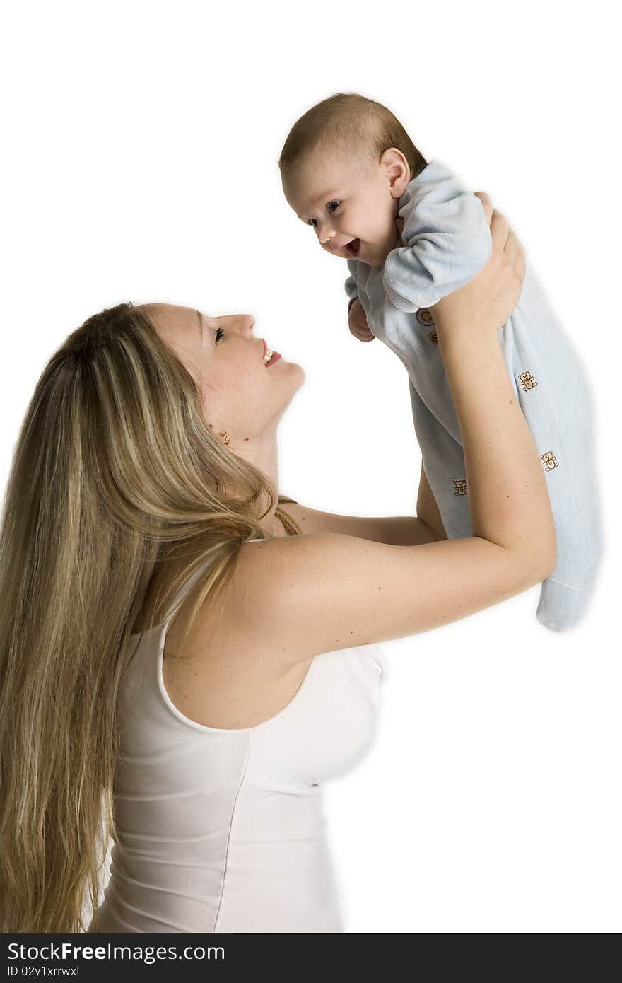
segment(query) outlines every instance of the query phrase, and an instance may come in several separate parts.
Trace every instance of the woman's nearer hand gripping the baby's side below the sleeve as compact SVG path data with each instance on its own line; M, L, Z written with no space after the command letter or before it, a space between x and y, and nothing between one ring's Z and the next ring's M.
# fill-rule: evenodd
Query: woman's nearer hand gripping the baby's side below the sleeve
M469 283L429 308L436 328L464 329L470 338L503 327L519 302L525 279L525 250L507 218L492 207L485 192L476 195L490 226L490 259Z

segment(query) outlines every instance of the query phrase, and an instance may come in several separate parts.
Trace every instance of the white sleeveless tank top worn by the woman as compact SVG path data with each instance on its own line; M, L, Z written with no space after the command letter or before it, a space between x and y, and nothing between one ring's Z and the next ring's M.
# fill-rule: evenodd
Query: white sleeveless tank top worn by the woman
M255 542L255 541L250 541ZM322 785L366 754L386 667L376 645L315 656L268 721L227 729L185 717L162 678L173 608L130 638L119 693L119 840L102 933L343 932Z

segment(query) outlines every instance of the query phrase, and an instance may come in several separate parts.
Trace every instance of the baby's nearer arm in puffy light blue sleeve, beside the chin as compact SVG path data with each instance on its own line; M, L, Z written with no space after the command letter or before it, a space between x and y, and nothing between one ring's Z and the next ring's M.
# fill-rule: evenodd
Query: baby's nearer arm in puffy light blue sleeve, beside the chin
M480 272L492 241L481 201L439 161L411 181L399 216L405 246L384 262L383 287L398 311L431 307Z

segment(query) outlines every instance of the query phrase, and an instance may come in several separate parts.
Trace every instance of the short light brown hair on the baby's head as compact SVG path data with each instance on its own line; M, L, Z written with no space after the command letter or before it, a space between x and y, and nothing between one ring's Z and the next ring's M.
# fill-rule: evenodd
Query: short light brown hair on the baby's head
M411 181L427 164L424 156L390 109L358 92L335 92L315 103L290 130L278 166L286 178L316 147L369 159L385 150L401 150L411 169Z

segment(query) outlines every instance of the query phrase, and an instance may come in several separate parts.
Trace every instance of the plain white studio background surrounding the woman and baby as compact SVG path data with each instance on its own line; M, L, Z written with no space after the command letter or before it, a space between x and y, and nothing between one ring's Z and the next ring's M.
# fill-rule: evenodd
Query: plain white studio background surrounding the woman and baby
M3 18L3 487L66 335L121 300L166 301L251 312L304 366L279 431L282 492L414 514L406 373L350 335L345 260L296 218L276 164L295 120L336 91L389 106L427 160L488 192L586 365L607 537L592 607L555 634L535 588L384 646L374 748L326 786L351 933L620 930L612 10L124 0Z

